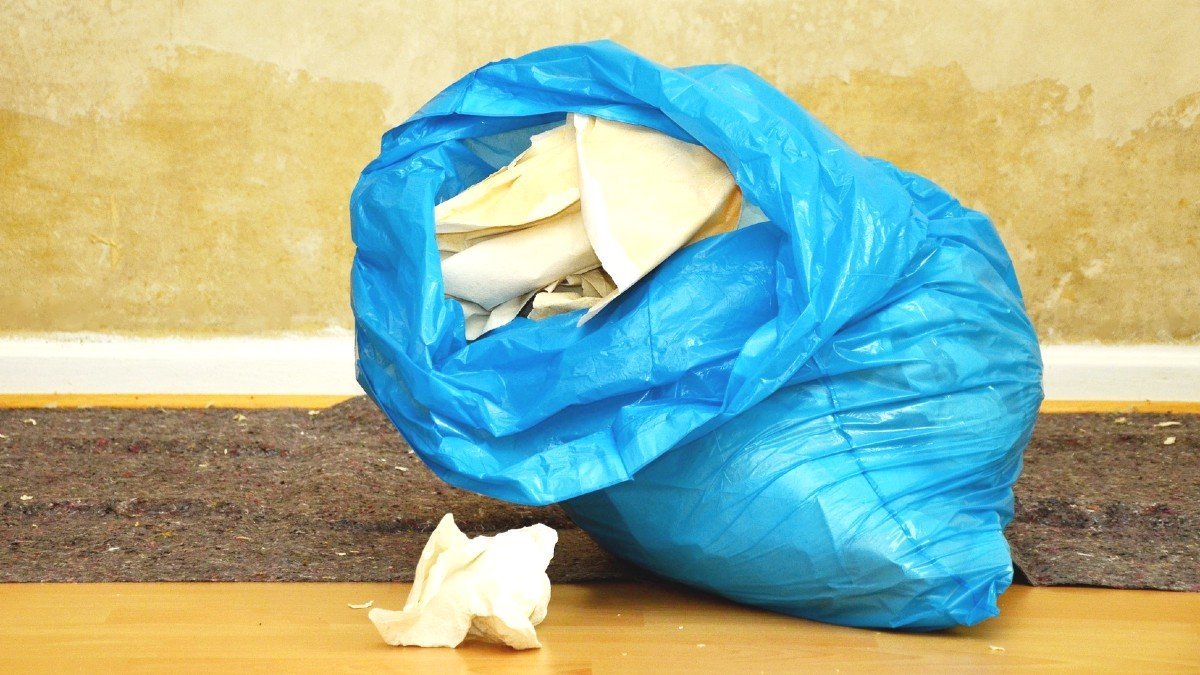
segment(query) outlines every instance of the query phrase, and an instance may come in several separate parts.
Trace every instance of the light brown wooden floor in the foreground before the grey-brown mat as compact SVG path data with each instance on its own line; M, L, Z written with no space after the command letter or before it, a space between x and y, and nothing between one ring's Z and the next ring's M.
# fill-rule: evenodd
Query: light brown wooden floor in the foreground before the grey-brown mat
M541 650L390 647L348 603L403 584L0 585L0 673L1200 671L1200 593L1013 587L940 634L826 626L674 587L560 585Z

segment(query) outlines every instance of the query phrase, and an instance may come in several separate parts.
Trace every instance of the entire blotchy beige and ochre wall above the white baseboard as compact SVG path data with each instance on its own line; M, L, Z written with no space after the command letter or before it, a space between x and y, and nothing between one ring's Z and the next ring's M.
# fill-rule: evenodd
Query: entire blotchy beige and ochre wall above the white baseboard
M0 0L0 334L348 327L347 197L467 70L733 61L997 222L1051 342L1200 342L1200 2Z

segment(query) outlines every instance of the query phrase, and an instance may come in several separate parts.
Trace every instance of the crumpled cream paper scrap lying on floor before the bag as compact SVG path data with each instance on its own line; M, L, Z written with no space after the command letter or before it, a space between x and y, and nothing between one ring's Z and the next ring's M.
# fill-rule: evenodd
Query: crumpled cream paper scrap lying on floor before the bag
M416 563L404 609L367 615L389 645L455 647L467 635L514 649L540 647L558 533L532 525L468 538L446 514Z

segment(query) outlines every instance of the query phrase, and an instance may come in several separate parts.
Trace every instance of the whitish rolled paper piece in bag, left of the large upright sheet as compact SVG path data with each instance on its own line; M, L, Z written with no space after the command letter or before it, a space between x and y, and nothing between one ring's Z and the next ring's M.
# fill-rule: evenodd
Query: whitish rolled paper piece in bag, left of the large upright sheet
M512 298L600 264L578 207L480 241L442 262L448 295L491 310Z

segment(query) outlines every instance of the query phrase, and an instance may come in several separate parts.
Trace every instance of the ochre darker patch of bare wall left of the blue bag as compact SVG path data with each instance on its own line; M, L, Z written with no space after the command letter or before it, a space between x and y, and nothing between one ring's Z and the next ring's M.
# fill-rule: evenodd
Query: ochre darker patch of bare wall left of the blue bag
M347 196L385 101L181 49L118 118L0 113L0 331L346 325Z

